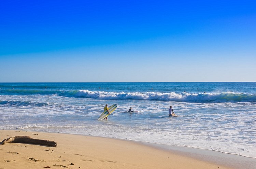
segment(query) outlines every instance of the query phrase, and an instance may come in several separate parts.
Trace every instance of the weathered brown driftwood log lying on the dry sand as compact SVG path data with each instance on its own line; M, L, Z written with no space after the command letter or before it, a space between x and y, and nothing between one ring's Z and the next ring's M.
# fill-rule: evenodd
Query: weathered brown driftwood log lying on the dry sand
M28 144L40 144L40 145L46 145L51 147L57 147L57 143L54 141L34 139L29 136L9 137L2 141L2 144L5 144L5 143L28 143Z

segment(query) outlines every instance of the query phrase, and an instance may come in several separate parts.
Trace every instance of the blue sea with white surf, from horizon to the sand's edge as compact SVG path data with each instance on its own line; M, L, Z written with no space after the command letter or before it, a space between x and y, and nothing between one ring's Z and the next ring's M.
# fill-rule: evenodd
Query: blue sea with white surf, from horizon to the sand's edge
M105 104L117 104L97 120ZM178 117L169 117L170 106ZM133 113L128 113L132 107ZM256 157L256 82L0 83L0 128Z

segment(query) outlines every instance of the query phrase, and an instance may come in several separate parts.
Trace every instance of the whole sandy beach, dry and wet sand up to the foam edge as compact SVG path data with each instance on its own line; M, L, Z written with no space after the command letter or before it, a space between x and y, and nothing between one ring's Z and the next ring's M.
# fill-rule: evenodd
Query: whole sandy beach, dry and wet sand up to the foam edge
M78 165L83 168L84 164L88 165L85 168L252 168L256 165L255 158L218 151L91 135L1 130L0 141L18 135L54 140L58 146L47 147L23 143L0 145L0 152L3 154L0 157L0 166L3 166L3 168L14 167L15 163L18 166L24 165L24 168L26 166L42 168L46 164L51 168L55 168L54 165L62 164L68 168L79 168ZM22 146L26 146L26 149ZM66 149L66 147L69 148ZM34 156L22 155L26 153L33 154L33 149L38 150ZM53 152L49 153L44 149L51 149ZM12 154L9 152L21 153ZM58 153L58 155L50 157L46 153L48 155ZM68 160L59 160L62 156L65 157L66 154L69 154L66 157ZM32 157L38 159L41 163L30 160L29 158ZM90 159L79 159L85 157ZM168 158L171 158L171 160L169 161ZM69 162L70 164L68 164ZM71 165L71 163L76 165ZM2 168L0 167L0 169Z

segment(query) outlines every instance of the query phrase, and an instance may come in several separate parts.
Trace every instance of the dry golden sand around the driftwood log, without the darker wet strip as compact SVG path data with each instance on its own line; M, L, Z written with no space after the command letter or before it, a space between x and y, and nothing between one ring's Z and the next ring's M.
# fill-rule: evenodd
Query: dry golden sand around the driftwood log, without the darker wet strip
M1 130L13 136L57 142L57 147L23 143L0 145L0 169L32 168L228 168L141 143L74 134Z

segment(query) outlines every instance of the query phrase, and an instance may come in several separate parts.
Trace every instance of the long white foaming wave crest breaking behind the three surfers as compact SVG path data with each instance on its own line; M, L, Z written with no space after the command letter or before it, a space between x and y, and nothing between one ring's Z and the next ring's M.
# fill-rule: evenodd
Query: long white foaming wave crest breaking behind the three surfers
M245 93L161 93L161 92L101 92L80 90L75 94L77 97L94 99L136 99L136 100L163 100L163 101L186 101L186 102L256 102L256 94Z

